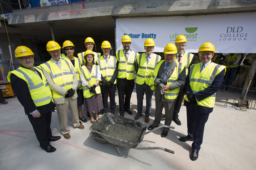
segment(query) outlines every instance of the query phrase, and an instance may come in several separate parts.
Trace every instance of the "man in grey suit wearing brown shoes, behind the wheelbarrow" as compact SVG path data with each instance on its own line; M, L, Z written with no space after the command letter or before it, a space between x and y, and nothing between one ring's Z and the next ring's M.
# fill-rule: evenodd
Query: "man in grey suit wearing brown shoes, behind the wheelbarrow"
M134 120L140 119L143 108L143 97L146 94L146 111L145 111L145 122L149 122L149 115L151 114L151 102L152 91L149 87L149 80L156 68L156 64L161 61L161 56L153 53L155 48L155 41L148 38L144 42L144 49L146 53L139 54L135 63L135 71L137 73L136 78L136 94L137 94L137 107L138 114L134 117Z

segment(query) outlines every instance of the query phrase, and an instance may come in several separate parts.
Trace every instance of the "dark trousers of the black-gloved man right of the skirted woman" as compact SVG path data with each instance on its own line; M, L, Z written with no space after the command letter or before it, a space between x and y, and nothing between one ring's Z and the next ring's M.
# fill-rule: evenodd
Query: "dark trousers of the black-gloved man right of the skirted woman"
M104 87L103 87L104 86ZM110 111L111 113L116 112L116 84L111 85L110 87L106 87L105 85L100 85L100 91L102 96L102 103L103 103L103 113L108 112L108 94L110 100Z

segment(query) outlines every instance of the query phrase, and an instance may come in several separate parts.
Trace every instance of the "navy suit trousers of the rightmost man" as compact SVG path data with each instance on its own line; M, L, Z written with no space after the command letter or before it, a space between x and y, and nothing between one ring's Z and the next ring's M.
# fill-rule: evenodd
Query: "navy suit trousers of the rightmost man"
M188 138L194 138L192 149L199 151L203 143L204 125L207 122L209 113L200 113L198 107L191 103L187 106Z

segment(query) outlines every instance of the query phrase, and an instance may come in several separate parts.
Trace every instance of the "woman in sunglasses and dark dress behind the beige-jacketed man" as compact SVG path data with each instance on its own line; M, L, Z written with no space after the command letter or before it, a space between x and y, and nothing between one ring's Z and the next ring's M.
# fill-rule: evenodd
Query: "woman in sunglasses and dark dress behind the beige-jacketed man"
M68 59L71 61L73 68L76 72L76 77L77 77L77 81L78 81L78 85L77 85L77 110L78 110L78 114L79 114L79 120L81 120L82 122L87 122L87 120L84 118L83 114L82 114L82 105L84 104L84 95L83 95L83 90L82 90L82 86L81 86L81 81L80 81L80 75L78 73L79 68L81 67L81 60L80 58L74 57L74 52L75 52L75 46L71 41L64 41L63 43L63 47L62 47L65 52L67 53L67 56L65 55L61 55L61 58L64 59Z

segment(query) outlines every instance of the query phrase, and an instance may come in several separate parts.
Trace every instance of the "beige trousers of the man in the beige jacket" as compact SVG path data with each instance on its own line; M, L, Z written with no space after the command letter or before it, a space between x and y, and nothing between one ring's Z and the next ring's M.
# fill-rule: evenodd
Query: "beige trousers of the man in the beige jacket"
M65 103L64 104L56 104L57 108L57 113L59 117L59 122L60 122L60 130L62 135L69 133L68 129L68 109L71 111L72 115L72 122L75 128L77 128L79 124L79 118L77 114L77 99L71 99L65 98Z

